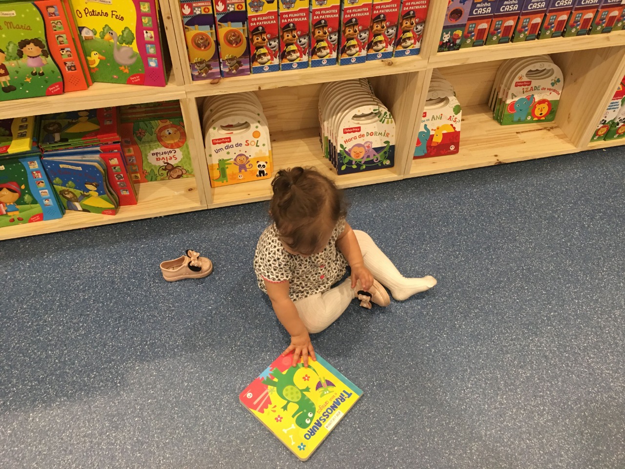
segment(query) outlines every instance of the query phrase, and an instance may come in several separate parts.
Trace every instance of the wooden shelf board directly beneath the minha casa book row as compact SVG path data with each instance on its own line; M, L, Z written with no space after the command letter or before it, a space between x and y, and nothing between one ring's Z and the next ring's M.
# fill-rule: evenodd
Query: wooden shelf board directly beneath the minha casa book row
M536 39L524 43L495 44L493 46L436 53L429 58L427 66L428 68L450 67L537 54L556 54L623 45L625 45L625 33L620 31L609 34L581 36L579 38L551 38L542 41Z

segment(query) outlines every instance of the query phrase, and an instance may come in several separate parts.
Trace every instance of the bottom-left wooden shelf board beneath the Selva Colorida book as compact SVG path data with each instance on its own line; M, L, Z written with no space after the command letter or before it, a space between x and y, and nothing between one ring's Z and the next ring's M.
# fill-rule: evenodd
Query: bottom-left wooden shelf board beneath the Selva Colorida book
M114 216L67 211L63 218L0 228L0 240L155 218L206 208L206 204L199 203L195 178L154 181L139 184L139 203L121 206Z

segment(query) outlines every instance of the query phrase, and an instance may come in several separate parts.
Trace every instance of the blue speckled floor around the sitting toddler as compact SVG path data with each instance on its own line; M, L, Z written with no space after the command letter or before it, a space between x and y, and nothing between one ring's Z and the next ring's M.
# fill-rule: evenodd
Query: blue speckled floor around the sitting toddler
M310 468L625 467L623 150L349 189L434 290L356 301L316 350L364 396ZM0 243L0 467L296 468L237 400L288 343L266 204ZM186 248L216 266L166 283Z

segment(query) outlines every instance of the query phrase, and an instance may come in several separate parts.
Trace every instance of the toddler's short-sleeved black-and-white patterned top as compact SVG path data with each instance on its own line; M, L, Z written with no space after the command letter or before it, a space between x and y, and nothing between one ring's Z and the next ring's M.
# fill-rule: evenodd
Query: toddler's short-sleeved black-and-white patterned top
M265 281L289 281L289 297L301 300L315 293L324 293L345 275L347 260L336 247L336 240L345 229L345 219L334 226L330 241L321 253L299 256L287 253L278 238L275 224L267 226L256 245L254 272L259 288L267 293Z

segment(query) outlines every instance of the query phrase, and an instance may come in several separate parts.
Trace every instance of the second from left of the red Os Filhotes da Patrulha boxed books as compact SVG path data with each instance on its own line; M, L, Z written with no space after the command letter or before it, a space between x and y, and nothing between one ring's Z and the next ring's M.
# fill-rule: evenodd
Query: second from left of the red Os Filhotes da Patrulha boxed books
M280 68L308 67L309 5L307 0L279 0ZM297 54L297 56L296 56Z

